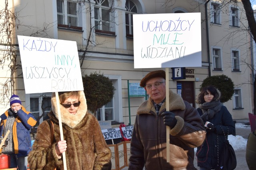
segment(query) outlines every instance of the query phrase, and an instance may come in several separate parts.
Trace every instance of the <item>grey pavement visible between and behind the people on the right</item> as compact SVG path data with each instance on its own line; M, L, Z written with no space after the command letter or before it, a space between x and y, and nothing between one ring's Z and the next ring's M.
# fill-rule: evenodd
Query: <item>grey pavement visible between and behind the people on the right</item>
M246 125L249 124L249 119L239 119L239 120L234 120L236 123L243 123ZM248 136L250 134L251 130L250 128L236 128L236 135L242 136L244 139L248 139ZM246 148L240 149L235 151L236 153L236 169L235 170L249 170L246 159L245 159L245 153L246 153ZM196 161L196 156L194 159L194 166L199 170L199 167L197 166L197 161ZM121 170L128 170L128 166L122 168ZM145 168L143 168L145 170Z

